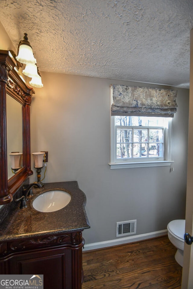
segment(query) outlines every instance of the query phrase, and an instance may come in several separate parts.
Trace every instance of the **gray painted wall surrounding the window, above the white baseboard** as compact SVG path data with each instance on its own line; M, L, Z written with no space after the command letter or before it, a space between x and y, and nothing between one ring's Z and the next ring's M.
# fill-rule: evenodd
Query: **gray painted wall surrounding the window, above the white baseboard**
M137 235L185 218L189 90L178 89L170 167L110 169L111 83L137 82L41 73L31 106L31 152L49 152L43 182L77 180L87 196L86 244L116 239L116 222L137 219ZM32 159L32 167L34 161ZM44 170L42 172L43 176ZM36 174L30 182L36 180Z

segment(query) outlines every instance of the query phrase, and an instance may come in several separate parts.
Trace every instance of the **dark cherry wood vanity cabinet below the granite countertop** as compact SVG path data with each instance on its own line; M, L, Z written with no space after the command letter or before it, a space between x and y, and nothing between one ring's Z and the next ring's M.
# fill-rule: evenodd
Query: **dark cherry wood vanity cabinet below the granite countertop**
M43 274L45 289L81 289L82 232L0 244L0 274Z

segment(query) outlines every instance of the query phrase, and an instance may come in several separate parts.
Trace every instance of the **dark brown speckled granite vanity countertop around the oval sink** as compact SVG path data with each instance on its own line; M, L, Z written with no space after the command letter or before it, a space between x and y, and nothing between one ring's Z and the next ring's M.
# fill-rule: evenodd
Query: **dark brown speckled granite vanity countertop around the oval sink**
M0 228L0 241L10 241L42 235L61 234L90 228L85 211L86 196L76 181L46 183L42 188L32 188L33 196L27 208L18 207L10 212ZM46 191L63 190L71 195L70 203L61 210L49 213L36 211L33 200ZM20 203L20 202L18 202Z

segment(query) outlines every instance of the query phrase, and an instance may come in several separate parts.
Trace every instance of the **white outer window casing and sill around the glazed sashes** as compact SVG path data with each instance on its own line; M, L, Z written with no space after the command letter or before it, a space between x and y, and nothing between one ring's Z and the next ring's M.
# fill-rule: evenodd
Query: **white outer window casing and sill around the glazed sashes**
M115 116L111 116L111 160L109 166L111 169L124 169L124 168L139 168L139 167L152 167L152 166L171 166L171 140L172 140L172 118L168 120L168 128L164 129L164 150L165 160L147 160L147 161L127 161L127 159L116 158L116 127Z

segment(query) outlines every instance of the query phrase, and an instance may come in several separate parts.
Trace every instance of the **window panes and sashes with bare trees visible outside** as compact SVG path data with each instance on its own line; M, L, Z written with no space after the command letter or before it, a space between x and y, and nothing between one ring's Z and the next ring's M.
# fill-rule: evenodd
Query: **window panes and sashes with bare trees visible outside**
M162 119L116 116L117 158L163 157Z

